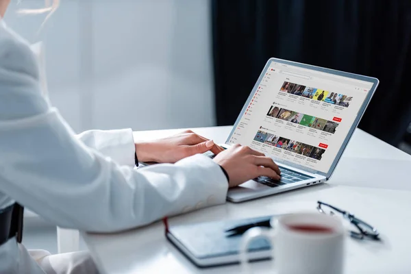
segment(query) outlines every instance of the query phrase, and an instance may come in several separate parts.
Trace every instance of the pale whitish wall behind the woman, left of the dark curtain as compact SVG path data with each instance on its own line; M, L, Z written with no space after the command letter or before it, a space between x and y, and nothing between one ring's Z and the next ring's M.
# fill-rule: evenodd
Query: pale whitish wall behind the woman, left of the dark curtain
M51 101L73 128L214 125L208 0L62 0L45 17L18 16L42 0L12 0L9 27L46 45Z

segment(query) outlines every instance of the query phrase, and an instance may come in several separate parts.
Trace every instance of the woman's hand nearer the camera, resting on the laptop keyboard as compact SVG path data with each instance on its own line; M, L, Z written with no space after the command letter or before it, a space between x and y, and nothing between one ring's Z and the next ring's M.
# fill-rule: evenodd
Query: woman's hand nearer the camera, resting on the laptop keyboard
M214 162L227 171L230 188L260 176L279 180L281 175L281 171L273 159L241 145L233 145L222 151L216 155Z

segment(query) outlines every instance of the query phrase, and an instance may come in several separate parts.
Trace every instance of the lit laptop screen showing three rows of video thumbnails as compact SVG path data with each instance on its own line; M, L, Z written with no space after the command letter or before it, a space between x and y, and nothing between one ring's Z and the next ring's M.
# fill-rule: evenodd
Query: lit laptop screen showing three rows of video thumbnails
M271 62L227 140L327 173L373 82Z

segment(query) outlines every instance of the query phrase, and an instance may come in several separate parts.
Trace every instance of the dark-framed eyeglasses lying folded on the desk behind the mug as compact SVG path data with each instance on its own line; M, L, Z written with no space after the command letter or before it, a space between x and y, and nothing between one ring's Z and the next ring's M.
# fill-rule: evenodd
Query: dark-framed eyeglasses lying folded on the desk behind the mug
M354 225L358 231L350 231L350 236L352 238L363 240L364 238L368 238L371 240L379 240L379 233L377 229L368 223L358 219L353 214L345 211L340 210L334 206L331 206L327 203L323 203L322 201L317 201L317 210L323 214L335 215L334 211L343 214L344 218L347 219L352 225ZM333 211L334 210L334 211Z

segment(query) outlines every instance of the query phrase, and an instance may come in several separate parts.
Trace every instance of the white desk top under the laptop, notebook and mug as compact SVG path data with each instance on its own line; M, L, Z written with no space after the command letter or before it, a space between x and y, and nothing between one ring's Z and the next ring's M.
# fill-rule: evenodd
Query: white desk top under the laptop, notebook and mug
M224 142L231 127L196 129ZM160 138L180 130L138 132L135 138ZM411 156L357 130L329 184L240 204L226 203L170 220L171 225L315 210L322 200L349 210L379 229L382 242L347 239L346 273L410 273L411 186L406 177ZM358 171L362 169L362 173ZM390 170L391 176L386 175ZM154 223L121 234L84 234L101 273L238 273L238 266L197 269L164 238ZM272 273L271 261L253 264L254 273Z

